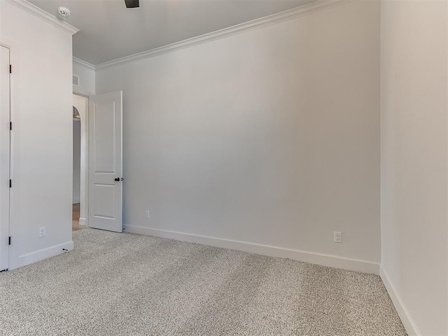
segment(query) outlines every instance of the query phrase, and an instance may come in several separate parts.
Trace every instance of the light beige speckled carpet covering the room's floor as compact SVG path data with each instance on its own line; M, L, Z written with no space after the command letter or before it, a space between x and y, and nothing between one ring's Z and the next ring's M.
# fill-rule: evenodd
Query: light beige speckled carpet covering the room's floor
M378 276L85 229L0 273L0 335L406 335Z

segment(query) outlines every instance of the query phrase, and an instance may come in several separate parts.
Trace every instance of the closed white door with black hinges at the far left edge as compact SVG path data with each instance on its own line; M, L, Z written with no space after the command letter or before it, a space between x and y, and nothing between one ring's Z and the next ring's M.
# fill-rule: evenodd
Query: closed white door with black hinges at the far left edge
M8 269L10 82L9 49L0 45L0 271Z

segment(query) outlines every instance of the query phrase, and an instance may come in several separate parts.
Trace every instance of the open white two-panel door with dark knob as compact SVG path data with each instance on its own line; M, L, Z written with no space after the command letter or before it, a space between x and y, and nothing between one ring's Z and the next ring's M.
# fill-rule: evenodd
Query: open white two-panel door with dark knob
M123 231L123 92L89 102L89 227Z

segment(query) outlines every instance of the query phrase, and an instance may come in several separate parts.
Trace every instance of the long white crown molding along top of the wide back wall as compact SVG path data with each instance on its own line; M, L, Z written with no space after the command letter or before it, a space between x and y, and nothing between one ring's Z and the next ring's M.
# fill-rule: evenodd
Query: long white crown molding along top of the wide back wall
M304 6L299 6L299 7L290 9L290 10L285 10L283 12L269 15L264 18L255 19L252 21L241 23L239 25L235 25L232 27L228 27L228 28L224 28L224 29L221 29L218 31L213 31L211 33L200 35L197 37L188 38L187 40L172 43L169 45L165 45L160 48L154 48L154 49L151 49L148 51L139 52L134 55L125 56L125 57L121 57L118 59L113 59L108 62L97 64L94 66L94 68L95 68L95 70L106 69L111 66L118 66L120 64L134 62L139 59L156 57L159 55L166 54L168 52L174 52L176 50L182 50L185 48L193 47L194 45L211 42L211 41L217 40L218 38L225 38L225 37L232 36L235 34L243 33L244 31L258 29L258 28L265 27L268 25L274 25L276 23L283 22L286 20L292 20L295 18L299 18L300 16L315 13L319 10L332 8L332 7L339 6L344 3L349 3L352 1L356 1L356 0L316 0L314 2L307 3Z

